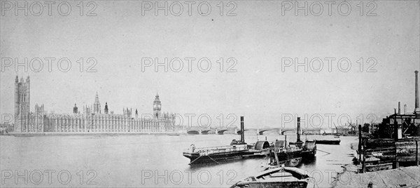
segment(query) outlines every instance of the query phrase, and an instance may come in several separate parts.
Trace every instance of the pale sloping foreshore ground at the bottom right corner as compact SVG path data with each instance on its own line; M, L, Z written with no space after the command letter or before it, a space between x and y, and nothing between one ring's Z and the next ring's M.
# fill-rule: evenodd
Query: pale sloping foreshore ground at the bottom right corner
M420 166L358 173L353 164L343 167L332 182L332 187L420 187Z

